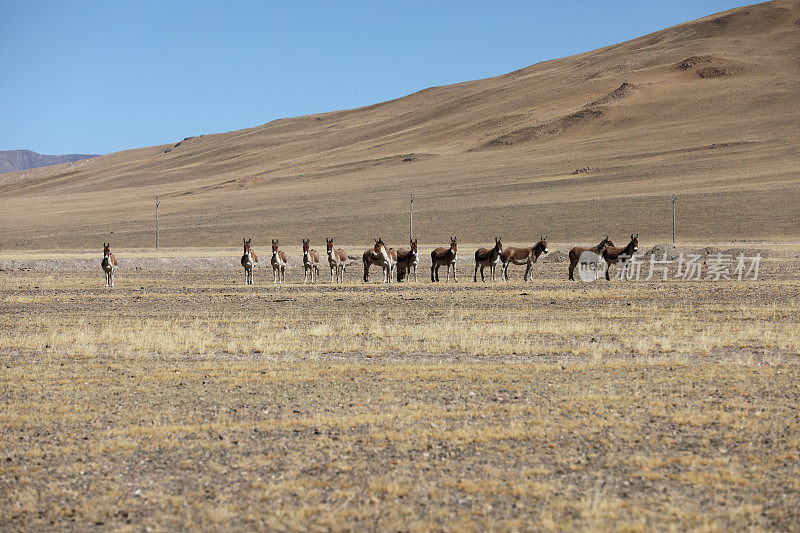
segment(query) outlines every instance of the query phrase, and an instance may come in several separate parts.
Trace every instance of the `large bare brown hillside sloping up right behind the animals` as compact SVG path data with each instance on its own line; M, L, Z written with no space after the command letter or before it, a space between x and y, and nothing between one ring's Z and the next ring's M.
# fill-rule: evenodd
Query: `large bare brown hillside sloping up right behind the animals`
M0 246L799 239L800 2L503 76L0 177ZM176 140L177 141L177 140ZM113 235L112 235L113 232Z

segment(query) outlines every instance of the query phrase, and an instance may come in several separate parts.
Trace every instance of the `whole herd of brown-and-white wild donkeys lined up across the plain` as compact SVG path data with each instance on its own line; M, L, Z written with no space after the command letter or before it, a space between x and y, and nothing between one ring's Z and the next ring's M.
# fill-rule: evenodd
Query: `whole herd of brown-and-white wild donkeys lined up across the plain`
M250 247L251 239L243 241L244 255L242 255L242 267L245 271L245 284L253 284L253 267L258 264L258 256ZM341 248L334 248L333 239L325 239L328 255L328 266L331 269L331 283L344 282L345 265L348 261L347 254ZM391 283L393 274L397 274L397 281L410 279L414 274L414 281L417 281L417 264L419 255L417 253L417 240L410 242L408 250L386 248L381 239L375 239L375 245L364 251L362 263L364 265L364 281L369 281L369 267L377 265L383 269L383 282ZM608 237L600 241L597 246L591 248L574 247L569 251L569 279L574 281L575 267L579 263L594 263L595 269L600 263L605 265L606 279L609 278L608 269L611 265L619 263L621 267L627 266L628 261L639 249L639 234L631 235L631 241L624 248L614 246ZM478 248L475 250L475 273L473 281L478 281L478 270L481 272L481 281L485 281L483 271L489 267L489 279L495 280L495 269L502 264L502 276L508 280L508 265L526 265L523 279L528 281L533 263L539 256L547 253L547 237L543 236L539 242L529 248L516 248L512 246L503 247L500 238L495 238L494 247ZM602 262L600 259L602 258ZM450 238L450 247L436 248L431 252L431 281L439 281L439 268L447 267L445 281L450 280L450 269L453 270L453 281L456 278L456 261L458 261L458 239ZM283 283L288 263L286 253L278 249L278 241L272 240L272 259L270 260L273 272L273 283ZM315 283L319 280L319 253L310 248L309 239L303 239L303 283ZM106 274L106 286L114 286L114 271L117 267L117 258L111 253L110 243L103 243L103 271Z

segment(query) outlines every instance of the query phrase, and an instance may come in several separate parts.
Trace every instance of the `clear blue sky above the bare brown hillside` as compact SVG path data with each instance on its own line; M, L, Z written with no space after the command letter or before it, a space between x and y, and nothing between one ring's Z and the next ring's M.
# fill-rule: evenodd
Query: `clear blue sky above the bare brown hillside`
M740 5L0 0L0 150L110 153L359 107Z

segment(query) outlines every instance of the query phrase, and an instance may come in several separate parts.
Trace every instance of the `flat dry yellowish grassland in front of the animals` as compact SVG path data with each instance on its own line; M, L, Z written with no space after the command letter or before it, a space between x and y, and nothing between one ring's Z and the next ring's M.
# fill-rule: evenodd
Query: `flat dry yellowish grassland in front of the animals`
M796 261L565 268L2 272L0 528L800 527Z

